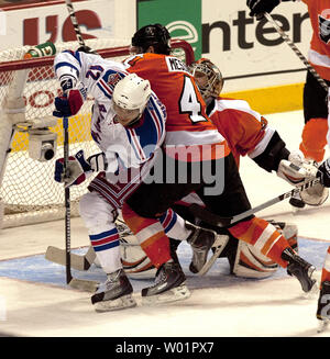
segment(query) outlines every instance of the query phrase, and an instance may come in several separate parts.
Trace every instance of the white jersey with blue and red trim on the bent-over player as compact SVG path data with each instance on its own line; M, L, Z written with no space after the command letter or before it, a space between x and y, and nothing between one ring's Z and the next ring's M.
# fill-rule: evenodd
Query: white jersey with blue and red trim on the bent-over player
M54 67L58 80L69 75L77 80L76 87L84 87L94 97L91 136L107 157L109 172L119 165L138 168L153 157L164 141L166 121L166 109L154 92L141 120L124 127L116 121L112 108L114 86L128 75L122 64L65 51L55 57Z

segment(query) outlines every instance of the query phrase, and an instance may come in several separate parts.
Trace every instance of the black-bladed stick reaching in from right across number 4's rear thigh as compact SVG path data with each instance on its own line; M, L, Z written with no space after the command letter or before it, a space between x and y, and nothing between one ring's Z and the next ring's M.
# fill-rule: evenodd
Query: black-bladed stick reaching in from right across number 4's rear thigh
M218 227L228 227L232 224L235 224L238 223L239 221L241 220L244 220L249 215L251 214L254 214L258 211L262 211L275 203L278 203L285 199L288 199L290 198L292 195L294 194L298 194L300 193L301 191L308 189L308 188L311 188L316 184L320 183L320 178L316 178L307 183L304 183L299 187L296 187L295 189L288 191L288 192L285 192L280 195L277 195L275 197L274 199L265 202L265 203L262 203L251 210L248 210L241 214L238 214L238 215L234 215L232 217L221 217L220 215L217 215L217 214L213 214L211 213L210 211L204 209L202 206L198 205L198 204L191 204L189 206L189 211L198 218L200 218L201 221L208 223L208 224L211 224L213 226L218 226Z

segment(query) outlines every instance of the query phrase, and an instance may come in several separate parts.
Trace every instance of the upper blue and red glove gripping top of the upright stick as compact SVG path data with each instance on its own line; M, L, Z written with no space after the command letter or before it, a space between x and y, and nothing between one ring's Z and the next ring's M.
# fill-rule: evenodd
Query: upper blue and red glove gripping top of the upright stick
M85 89L70 89L61 97L55 98L53 115L56 117L69 117L78 113L87 94Z

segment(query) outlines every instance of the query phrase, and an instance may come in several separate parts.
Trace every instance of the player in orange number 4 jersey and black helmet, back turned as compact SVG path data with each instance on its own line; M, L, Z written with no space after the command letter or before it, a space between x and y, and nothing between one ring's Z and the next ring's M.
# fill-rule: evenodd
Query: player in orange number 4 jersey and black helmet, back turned
M169 55L168 42L169 34L164 26L144 26L132 38L136 55L125 61L129 71L150 80L167 110L163 161L154 167L154 172L162 169L162 176L157 180L154 177L154 181L142 183L122 207L124 221L144 249L155 238L168 243L158 217L193 191L198 193L210 211L222 216L234 215L251 207L233 155L207 116L206 104L194 77L180 60ZM216 176L208 172L205 177L205 168L212 169L210 172ZM174 169L174 173L170 169ZM182 169L185 169L185 181L180 181ZM168 175L170 181L167 180ZM271 223L252 215L232 225L229 231L234 237L256 246L263 255L282 267L287 267L288 272L300 281L304 291L312 288L315 280L311 274L315 267L300 258ZM212 243L195 243L193 248L194 246L201 254L200 265L204 265L202 261L207 258L205 253L211 248ZM168 248L168 256L158 260L155 284L142 295L156 295L164 289L179 287L185 280L184 273L168 263L169 258ZM198 272L199 269L190 270Z

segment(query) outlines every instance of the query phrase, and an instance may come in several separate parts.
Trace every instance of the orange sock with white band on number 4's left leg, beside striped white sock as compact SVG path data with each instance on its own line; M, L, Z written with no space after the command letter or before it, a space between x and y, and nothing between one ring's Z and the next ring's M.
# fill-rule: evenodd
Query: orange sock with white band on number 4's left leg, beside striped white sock
M127 203L123 204L121 213L141 248L156 268L172 259L169 239L158 220L141 217Z

